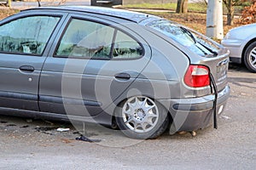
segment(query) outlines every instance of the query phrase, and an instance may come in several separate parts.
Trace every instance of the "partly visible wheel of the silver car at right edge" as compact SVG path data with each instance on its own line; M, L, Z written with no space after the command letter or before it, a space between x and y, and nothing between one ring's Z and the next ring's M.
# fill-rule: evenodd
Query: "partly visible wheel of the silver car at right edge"
M256 72L256 42L247 47L244 54L244 63L249 71Z

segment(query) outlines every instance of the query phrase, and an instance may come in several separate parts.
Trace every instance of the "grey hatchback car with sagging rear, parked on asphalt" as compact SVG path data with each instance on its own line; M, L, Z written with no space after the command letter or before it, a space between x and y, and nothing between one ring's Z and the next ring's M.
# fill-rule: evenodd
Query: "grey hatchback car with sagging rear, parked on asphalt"
M0 22L1 114L96 122L134 139L217 127L228 64L218 43L154 15L26 9Z

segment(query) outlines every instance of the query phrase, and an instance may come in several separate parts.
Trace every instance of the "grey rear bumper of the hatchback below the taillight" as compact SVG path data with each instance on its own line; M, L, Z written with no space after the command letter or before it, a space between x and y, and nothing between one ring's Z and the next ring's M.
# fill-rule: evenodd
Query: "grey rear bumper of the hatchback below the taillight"
M224 111L227 99L230 96L230 87L226 86L218 92L217 113ZM195 131L212 124L214 95L207 95L193 99L160 99L160 103L169 109L172 115L170 133L179 131Z

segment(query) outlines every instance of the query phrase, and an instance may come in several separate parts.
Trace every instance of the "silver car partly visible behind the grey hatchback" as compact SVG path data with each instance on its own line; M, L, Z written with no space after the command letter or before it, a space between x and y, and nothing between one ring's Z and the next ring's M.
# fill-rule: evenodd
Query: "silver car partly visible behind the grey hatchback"
M221 42L230 50L230 61L244 63L256 72L256 24L231 29Z

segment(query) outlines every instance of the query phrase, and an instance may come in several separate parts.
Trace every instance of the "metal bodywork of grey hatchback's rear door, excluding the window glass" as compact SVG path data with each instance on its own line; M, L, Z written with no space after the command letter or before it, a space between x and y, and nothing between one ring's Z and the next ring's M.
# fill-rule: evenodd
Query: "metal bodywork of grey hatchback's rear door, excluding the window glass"
M129 31L124 26L118 27L109 20L78 14L70 14L65 24L75 18L94 20L121 31ZM56 39L60 39L63 30ZM40 78L39 105L41 111L60 114L67 112L75 116L96 116L111 105L138 77L151 57L148 43L136 33L129 32L143 44L144 55L140 59L59 58L54 57L57 46L55 43L44 63ZM127 80L116 78L115 76L119 73L129 74L131 78ZM115 87L114 90L112 87Z

